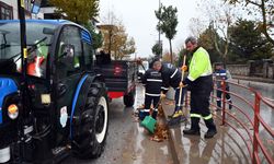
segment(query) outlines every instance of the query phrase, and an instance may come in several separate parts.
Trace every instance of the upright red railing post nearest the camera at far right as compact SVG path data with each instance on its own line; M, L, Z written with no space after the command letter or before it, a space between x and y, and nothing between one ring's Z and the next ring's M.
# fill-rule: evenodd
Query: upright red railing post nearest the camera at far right
M258 139L256 136L259 134L259 119L258 115L260 115L260 102L261 96L255 92L255 103L254 103L254 133L253 133L253 155L252 155L252 164L256 164L256 157L258 155Z

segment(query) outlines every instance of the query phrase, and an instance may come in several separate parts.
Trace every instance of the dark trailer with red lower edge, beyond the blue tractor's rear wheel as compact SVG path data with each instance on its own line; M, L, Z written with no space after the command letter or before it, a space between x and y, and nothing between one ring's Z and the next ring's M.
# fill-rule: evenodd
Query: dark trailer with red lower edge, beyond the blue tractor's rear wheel
M134 105L136 95L137 63L128 60L111 60L110 55L96 56L96 72L104 79L109 98L123 97L125 106Z

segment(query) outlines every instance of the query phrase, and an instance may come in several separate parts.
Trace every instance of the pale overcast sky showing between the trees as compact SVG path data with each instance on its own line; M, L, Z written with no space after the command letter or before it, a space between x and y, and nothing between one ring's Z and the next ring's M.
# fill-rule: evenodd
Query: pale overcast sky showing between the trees
M184 39L191 35L189 21L197 15L196 0L160 0L165 7L178 8L179 24L176 35L172 40L173 51L183 45ZM156 25L158 20L155 10L159 8L159 0L100 0L100 17L106 17L109 11L123 21L126 32L136 42L137 56L148 57L152 55L151 47L159 39ZM161 35L163 50L169 49L169 42Z

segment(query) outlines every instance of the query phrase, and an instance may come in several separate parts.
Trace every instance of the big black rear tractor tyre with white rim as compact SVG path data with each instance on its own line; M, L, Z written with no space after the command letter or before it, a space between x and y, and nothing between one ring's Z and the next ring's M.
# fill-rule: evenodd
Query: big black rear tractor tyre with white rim
M99 157L105 147L109 128L106 92L98 85L89 89L81 114L81 131L76 139L76 155L80 159ZM73 145L73 144L72 144Z

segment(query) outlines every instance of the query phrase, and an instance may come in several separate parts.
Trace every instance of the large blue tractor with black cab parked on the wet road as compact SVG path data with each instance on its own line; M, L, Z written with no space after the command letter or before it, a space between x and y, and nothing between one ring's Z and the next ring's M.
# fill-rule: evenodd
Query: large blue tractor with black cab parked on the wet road
M22 62L20 21L0 21L0 163L102 154L109 98L93 69L91 43L90 33L72 22L27 20Z

